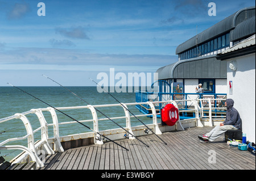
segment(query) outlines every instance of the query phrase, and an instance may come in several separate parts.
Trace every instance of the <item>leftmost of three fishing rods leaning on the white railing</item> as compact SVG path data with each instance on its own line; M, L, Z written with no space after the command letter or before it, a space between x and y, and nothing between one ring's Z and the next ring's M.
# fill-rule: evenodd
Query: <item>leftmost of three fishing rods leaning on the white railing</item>
M62 112L62 111L60 111L60 110L58 110L57 108L55 108L55 107L51 106L50 104L48 104L48 103L44 102L44 101L43 101L43 100L41 100L41 99L36 98L34 95L31 95L30 93L28 93L28 92L26 92L26 91L24 91L24 90L20 89L19 87L16 87L16 86L14 86L14 85L11 85L10 83L7 83L7 84L9 84L10 86L13 86L13 87L15 87L16 89L18 89L18 90L20 90L20 91L22 91L22 92L24 92L24 93L26 93L26 94L28 94L28 95L32 96L32 97L33 97L33 98L35 98L35 99L40 100L40 102L42 102L42 103L46 104L46 105L47 105L47 106L49 106L49 107L52 107L53 109L55 109L56 111L59 111L60 113L63 113L63 115L65 115L65 116L67 116L67 117L71 118L72 120L76 121L77 123L79 123L79 124L83 125L84 127L86 127L86 128L88 128L88 129L90 129L90 130L91 130L91 131L93 131L94 133L99 134L100 136L102 136L102 137L106 138L107 140L112 141L114 144L117 144L118 146L121 146L123 149L126 149L127 151L129 151L129 149L127 149L127 148L123 147L122 145L119 145L117 142L114 142L113 140L111 140L110 138L108 138L108 137L104 136L103 134L101 134L101 133L99 133L99 132L97 132L97 131L94 131L92 128L90 128L90 127L86 126L85 124L82 124L80 121L77 121L76 119L74 119L73 117L71 117L71 116L67 115L66 113L64 113L64 112Z

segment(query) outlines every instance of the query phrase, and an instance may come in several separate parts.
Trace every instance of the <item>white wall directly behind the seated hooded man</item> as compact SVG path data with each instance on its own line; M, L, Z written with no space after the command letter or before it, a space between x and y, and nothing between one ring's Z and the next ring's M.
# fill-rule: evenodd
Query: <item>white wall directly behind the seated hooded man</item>
M229 68L231 61L237 62L236 71ZM232 92L229 81L233 82ZM227 93L240 113L243 133L255 143L255 53L227 60Z

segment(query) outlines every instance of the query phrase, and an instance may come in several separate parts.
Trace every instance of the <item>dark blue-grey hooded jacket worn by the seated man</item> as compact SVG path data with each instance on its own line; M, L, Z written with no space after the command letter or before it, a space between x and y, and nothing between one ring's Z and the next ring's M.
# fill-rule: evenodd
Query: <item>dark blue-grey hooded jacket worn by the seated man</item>
M241 129L241 118L238 111L233 107L234 100L226 99L226 120L224 125L233 125L237 129Z

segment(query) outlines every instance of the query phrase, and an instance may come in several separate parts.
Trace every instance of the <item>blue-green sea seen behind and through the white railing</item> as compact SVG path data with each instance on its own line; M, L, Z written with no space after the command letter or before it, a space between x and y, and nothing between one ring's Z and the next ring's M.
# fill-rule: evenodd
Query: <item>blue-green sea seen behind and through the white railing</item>
M46 86L46 87L19 87L23 91L35 96L36 98L43 100L43 102L51 105L52 107L73 107L73 106L86 106L88 104L101 105L101 104L119 104L117 100L121 103L134 103L135 102L135 89L133 87L133 92L110 92L117 100L115 100L108 92L101 92L97 90L97 87L65 87L66 89L72 91L80 98L84 99L82 101L77 96L73 95L71 92L67 91L61 86ZM109 87L110 88L110 87ZM106 90L106 89L105 89ZM110 89L108 89L110 90ZM0 119L5 117L13 116L15 113L23 113L36 108L47 108L47 104L40 102L40 100L16 89L15 87L0 87ZM88 104L87 104L88 103ZM142 114L135 106L128 106L129 110L134 115ZM117 107L102 107L97 108L98 119L108 117L120 117L125 116L125 112L121 106ZM73 117L76 120L90 120L93 119L92 113L89 109L79 109L79 110L63 110L64 113ZM57 117L59 123L73 121L69 117L57 112ZM103 114L102 114L103 113ZM43 112L44 117L48 124L52 123L51 114L46 111ZM35 114L27 115L28 120L31 123L33 130L40 127L39 120ZM145 124L151 124L152 119L146 116L139 117L141 121ZM119 124L121 127L126 127L125 119L113 119L115 123ZM113 121L102 120L99 121L99 131L104 131L106 129L119 128L119 126ZM76 121L74 121L76 122ZM93 129L92 121L84 123L88 127ZM135 118L131 118L131 126L142 125L140 121ZM91 132L90 129L82 126L79 123L74 124L63 124L59 126L60 136L65 136L69 134ZM26 136L26 128L22 120L12 119L0 123L0 143L9 138L23 137ZM53 127L48 127L49 137L53 137ZM35 141L40 140L41 132L38 131L34 135ZM10 141L5 145L23 145L27 146L27 139L19 141ZM18 155L20 150L0 150L0 156L3 156L7 161L13 159Z

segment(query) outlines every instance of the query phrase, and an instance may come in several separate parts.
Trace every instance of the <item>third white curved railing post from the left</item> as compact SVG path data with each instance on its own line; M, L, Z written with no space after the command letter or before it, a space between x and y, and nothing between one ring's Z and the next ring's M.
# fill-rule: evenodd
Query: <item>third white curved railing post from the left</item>
M48 107L48 111L52 115L52 123L53 123L53 137L54 137L54 144L53 144L53 150L63 152L64 149L60 143L60 134L59 134L59 121L57 118L57 114L55 110L52 107Z

